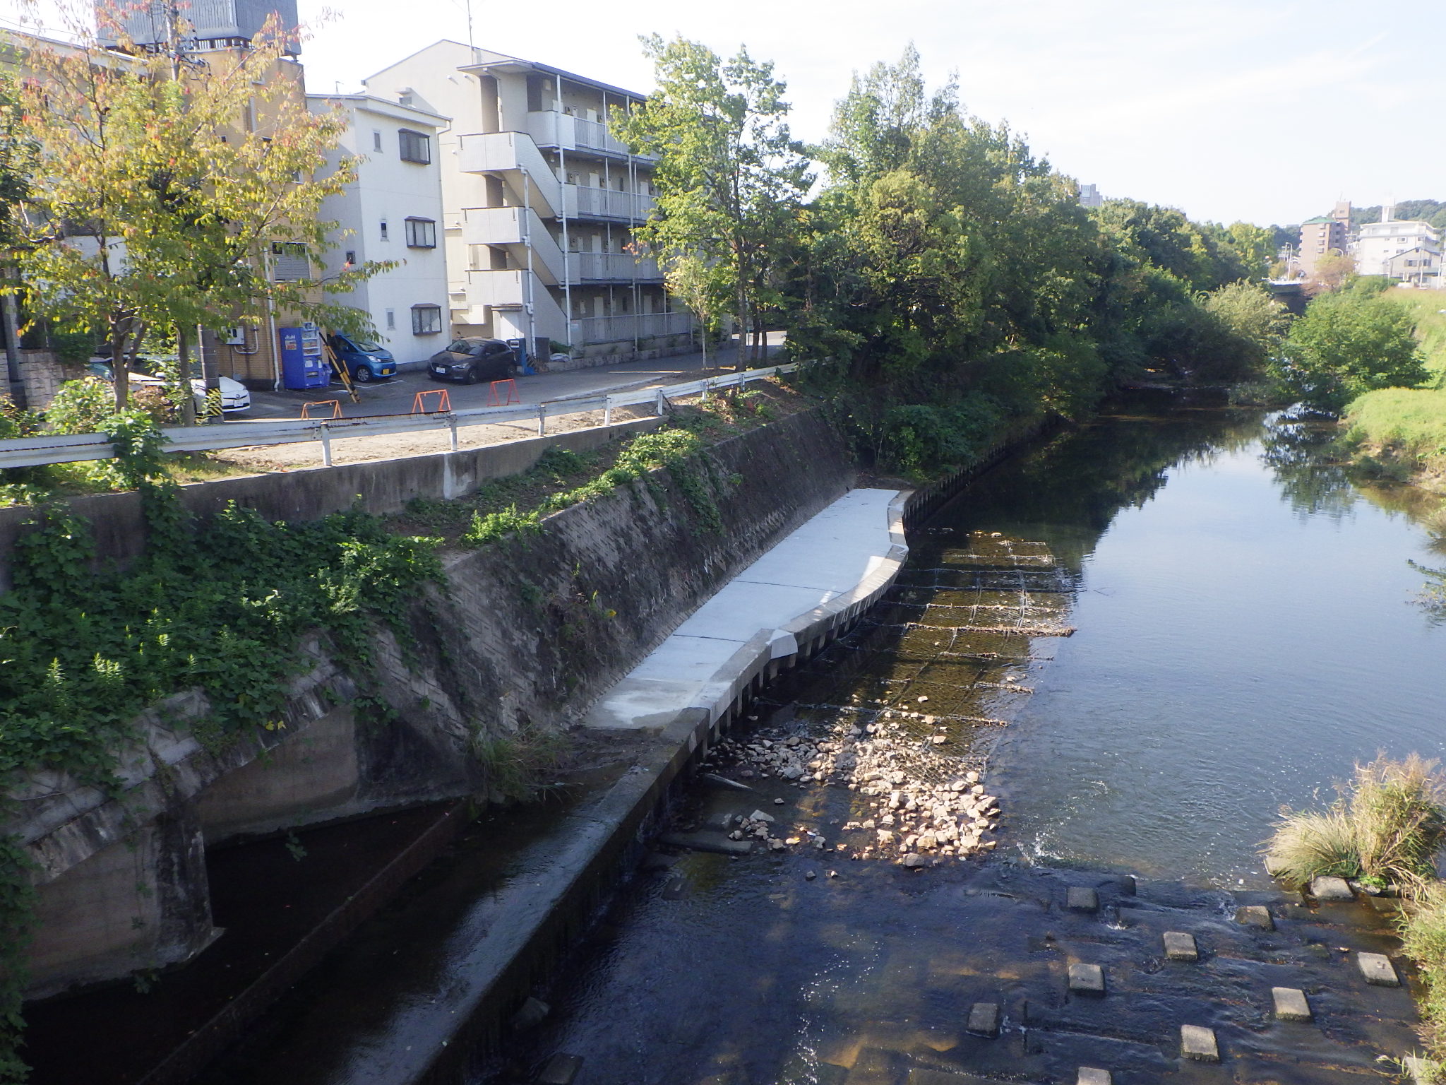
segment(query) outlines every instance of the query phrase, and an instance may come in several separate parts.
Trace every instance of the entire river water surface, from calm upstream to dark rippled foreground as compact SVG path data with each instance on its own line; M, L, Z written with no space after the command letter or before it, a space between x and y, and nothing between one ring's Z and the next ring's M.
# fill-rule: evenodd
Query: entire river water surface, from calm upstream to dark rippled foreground
M1086 1065L1116 1085L1319 1084L1407 1050L1407 992L1352 984L1352 952L1390 949L1379 917L1283 898L1258 858L1283 804L1329 797L1378 749L1446 752L1446 625L1410 564L1446 566L1416 521L1436 502L1353 486L1325 437L1135 402L979 479L914 534L894 602L771 690L755 728L837 735L921 697L953 712L928 731L957 720L937 749L1001 797L992 858L857 859L857 790L700 786L684 822L763 803L804 845L662 856L544 992L548 1023L474 1081L526 1081L565 1052L578 1085L1073 1082ZM999 554L1053 564L1006 574ZM946 628L1009 608L1073 635ZM1100 914L1070 911L1069 884L1098 887ZM1249 903L1281 932L1232 922ZM1193 932L1202 963L1163 962L1161 930ZM1106 968L1109 998L1064 990L1076 961ZM1281 984L1310 992L1314 1026L1271 1017ZM1004 1007L998 1040L963 1027L976 1001ZM1190 1021L1216 1030L1225 1068L1178 1058Z

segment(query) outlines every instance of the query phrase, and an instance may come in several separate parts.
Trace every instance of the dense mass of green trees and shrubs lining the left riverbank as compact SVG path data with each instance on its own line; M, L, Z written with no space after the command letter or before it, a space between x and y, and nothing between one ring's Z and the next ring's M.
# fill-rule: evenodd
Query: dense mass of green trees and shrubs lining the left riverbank
M1264 275L1268 230L1082 208L1008 126L967 114L953 84L927 90L912 48L837 103L808 201L769 65L683 39L646 49L659 91L619 127L659 155L645 240L694 311L788 328L803 386L865 463L927 475L1044 415L1082 417L1124 380L1258 369L1252 288L1205 298Z

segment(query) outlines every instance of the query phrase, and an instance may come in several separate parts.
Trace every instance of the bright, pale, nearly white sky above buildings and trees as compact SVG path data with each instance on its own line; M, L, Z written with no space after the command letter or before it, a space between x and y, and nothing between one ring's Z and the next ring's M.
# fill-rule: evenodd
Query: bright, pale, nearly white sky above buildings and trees
M0 0L0 13L16 0ZM1436 119L1446 3L1397 0L473 0L476 45L646 91L638 35L746 45L787 80L794 133L827 130L855 71L914 42L964 107L1105 195L1193 218L1299 223L1338 198L1446 200ZM330 12L330 20L328 20ZM440 38L466 0L299 0L312 91Z

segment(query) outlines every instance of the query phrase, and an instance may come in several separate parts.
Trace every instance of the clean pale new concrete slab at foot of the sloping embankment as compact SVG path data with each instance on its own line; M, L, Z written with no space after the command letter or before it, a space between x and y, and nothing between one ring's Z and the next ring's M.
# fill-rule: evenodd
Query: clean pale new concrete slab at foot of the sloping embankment
M898 499L898 490L850 490L792 531L599 700L589 726L662 728L685 709L717 718L752 671L797 652L898 571L907 556Z

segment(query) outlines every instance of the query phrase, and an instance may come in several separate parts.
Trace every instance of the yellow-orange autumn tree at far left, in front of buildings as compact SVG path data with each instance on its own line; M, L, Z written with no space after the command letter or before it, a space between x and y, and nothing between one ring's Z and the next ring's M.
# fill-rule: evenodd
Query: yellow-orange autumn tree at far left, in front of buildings
M331 247L335 224L320 220L321 201L353 178L350 161L320 172L346 122L307 110L278 20L249 48L176 65L163 52L101 46L100 36L126 45L113 7L100 10L98 29L80 10L69 17L72 46L19 42L25 130L40 148L19 204L29 231L19 265L32 311L104 333L117 409L147 330L259 324L268 307L341 328L364 324L322 297L379 265L325 284L269 273L282 246ZM176 27L178 41L185 30Z

